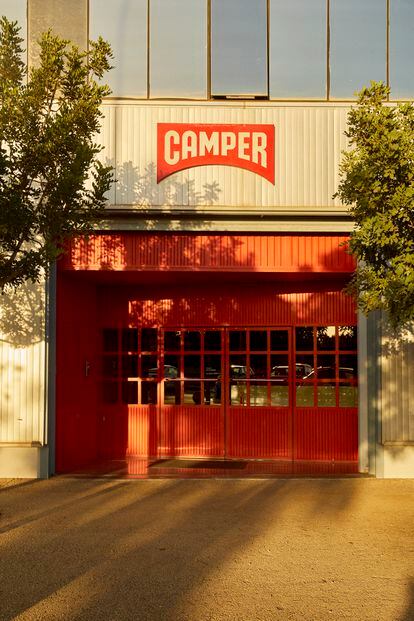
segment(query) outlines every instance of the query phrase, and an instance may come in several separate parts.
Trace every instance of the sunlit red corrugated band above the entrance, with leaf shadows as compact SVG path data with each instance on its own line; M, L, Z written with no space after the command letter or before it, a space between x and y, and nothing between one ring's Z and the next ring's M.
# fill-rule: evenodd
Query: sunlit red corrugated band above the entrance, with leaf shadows
M333 272L355 269L344 235L117 233L75 239L63 270Z

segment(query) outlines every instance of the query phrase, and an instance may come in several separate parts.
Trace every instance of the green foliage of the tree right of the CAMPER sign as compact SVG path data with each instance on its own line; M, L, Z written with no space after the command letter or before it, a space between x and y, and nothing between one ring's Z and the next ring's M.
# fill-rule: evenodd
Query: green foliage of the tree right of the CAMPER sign
M402 328L414 319L414 106L387 104L388 92L372 82L349 112L336 196L356 225L351 290L365 313L384 310Z

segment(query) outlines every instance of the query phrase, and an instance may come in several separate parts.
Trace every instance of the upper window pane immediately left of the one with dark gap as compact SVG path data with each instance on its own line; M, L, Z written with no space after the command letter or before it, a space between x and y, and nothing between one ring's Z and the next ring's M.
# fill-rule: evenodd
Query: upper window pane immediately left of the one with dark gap
M206 0L151 0L150 16L150 96L206 98Z

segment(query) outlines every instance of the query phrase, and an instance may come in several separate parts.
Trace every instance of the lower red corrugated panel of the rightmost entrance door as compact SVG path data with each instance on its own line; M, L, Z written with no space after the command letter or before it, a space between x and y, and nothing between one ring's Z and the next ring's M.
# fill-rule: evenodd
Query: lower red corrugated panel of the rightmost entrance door
M297 409L294 419L295 459L358 459L356 408Z

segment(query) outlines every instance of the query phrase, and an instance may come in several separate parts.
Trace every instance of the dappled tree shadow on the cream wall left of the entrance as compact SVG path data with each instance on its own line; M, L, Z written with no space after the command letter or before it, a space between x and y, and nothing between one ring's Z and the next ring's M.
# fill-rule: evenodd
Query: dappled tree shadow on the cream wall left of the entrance
M28 281L0 298L0 340L28 347L45 337L45 285Z

